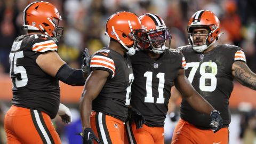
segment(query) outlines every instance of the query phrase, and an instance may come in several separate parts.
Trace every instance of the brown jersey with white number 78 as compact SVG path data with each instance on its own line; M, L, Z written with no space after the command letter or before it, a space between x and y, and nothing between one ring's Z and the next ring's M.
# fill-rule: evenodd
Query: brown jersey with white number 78
M186 76L195 90L220 112L223 123L230 123L229 98L233 91L231 68L236 60L246 62L244 52L234 45L218 45L212 51L197 53L191 46L179 47L187 62ZM199 113L183 99L181 118L201 128L211 129L210 116Z

